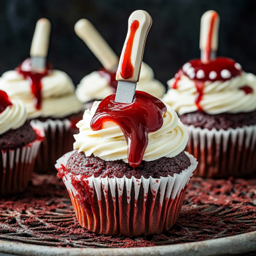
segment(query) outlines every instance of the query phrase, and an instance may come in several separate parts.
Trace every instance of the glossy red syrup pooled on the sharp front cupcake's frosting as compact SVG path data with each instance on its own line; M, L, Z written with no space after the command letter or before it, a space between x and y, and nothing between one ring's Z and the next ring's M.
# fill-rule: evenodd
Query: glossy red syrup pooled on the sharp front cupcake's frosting
M160 129L164 123L162 115L166 105L158 98L136 90L134 100L130 104L115 102L112 94L100 102L92 117L92 130L101 130L106 121L118 124L128 144L128 162L136 168L142 163L142 158L148 146L148 132Z

